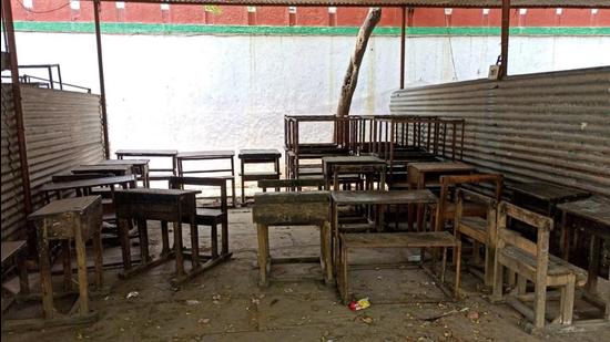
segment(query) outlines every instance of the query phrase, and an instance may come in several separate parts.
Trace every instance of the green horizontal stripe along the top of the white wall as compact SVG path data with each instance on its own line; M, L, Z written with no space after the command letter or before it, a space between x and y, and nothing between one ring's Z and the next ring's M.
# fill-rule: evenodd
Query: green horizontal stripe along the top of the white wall
M20 32L94 32L92 22L16 21ZM102 32L110 34L241 34L241 35L356 35L356 27L246 27L205 24L163 24L135 22L104 22ZM399 35L399 28L382 27L377 35ZM610 35L610 27L511 28L512 35ZM488 27L418 27L407 28L409 35L499 35L500 28Z

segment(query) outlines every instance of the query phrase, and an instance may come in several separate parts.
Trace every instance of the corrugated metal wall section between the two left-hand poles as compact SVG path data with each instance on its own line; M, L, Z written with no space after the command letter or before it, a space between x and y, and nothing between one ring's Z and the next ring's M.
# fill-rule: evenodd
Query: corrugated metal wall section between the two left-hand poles
M29 86L21 92L35 209L43 200L39 188L52 175L103 159L100 96Z

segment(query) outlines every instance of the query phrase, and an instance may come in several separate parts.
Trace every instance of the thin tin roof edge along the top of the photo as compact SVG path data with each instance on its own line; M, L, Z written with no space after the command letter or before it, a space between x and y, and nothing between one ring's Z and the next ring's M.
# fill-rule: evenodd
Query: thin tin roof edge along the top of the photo
M501 0L126 0L124 2L301 7L406 6L437 8L500 8L502 4ZM610 0L512 0L510 6L512 8L610 8Z

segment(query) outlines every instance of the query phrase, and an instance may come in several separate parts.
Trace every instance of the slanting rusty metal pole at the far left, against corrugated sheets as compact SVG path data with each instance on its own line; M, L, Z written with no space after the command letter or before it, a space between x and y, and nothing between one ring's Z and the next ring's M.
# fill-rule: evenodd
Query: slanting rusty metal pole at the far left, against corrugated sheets
M19 63L17 62L17 43L14 40L14 27L12 20L12 9L10 0L2 0L2 11L4 14L4 28L7 30L7 48L9 52L12 96L14 102L14 120L17 123L17 142L19 146L19 162L21 164L21 186L23 187L23 209L26 216L32 213L32 195L30 193L30 167L28 165L28 153L26 149L26 128L23 126L23 106L21 104L21 86L19 84ZM35 230L28 229L28 250L30 255L35 256L37 236Z

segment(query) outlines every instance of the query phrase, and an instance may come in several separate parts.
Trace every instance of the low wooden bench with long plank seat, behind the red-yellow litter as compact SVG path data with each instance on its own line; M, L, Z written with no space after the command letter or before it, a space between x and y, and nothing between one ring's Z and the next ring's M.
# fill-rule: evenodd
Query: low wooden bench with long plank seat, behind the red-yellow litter
M447 248L454 248L458 258L456 259L456 278L454 284L454 297L459 298L461 243L447 231L430 232L376 232L376 234L342 234L339 237L339 256L337 262L337 288L344 303L349 301L348 281L348 252L362 248L443 248L443 266L439 288L448 294L444 287L445 269L447 266ZM421 259L423 260L423 259Z

